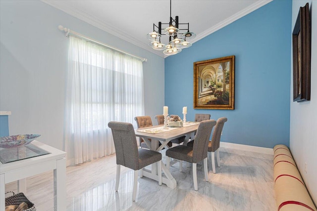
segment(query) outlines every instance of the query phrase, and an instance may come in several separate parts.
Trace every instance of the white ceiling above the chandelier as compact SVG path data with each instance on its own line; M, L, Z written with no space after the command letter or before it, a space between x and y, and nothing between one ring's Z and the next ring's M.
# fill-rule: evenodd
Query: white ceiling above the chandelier
M189 22L190 31L197 35L191 41L194 43L270 1L172 0L171 15L172 18L178 15L179 23ZM162 51L154 50L148 45L150 41L146 35L153 31L153 23L158 25L159 21L169 22L169 0L43 0L43 2L164 57ZM64 27L71 29L71 26ZM161 41L167 43L167 36L162 36Z

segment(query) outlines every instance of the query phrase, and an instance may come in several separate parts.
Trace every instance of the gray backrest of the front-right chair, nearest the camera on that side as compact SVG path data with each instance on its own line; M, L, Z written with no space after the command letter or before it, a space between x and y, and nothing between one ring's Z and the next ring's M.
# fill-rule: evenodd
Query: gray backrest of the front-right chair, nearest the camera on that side
M212 127L216 125L214 120L205 120L199 124L193 146L193 163L198 163L207 158L208 143Z

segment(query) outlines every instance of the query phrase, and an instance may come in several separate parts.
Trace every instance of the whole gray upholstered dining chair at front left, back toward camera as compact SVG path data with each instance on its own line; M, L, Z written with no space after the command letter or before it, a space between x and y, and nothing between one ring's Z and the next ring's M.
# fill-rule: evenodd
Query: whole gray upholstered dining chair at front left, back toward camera
M158 163L159 185L162 184L162 155L159 152L138 149L134 128L130 123L109 122L111 128L117 173L115 179L115 191L118 191L120 180L120 165L134 170L132 200L135 201L138 184L138 170L154 163ZM142 175L142 174L141 174Z

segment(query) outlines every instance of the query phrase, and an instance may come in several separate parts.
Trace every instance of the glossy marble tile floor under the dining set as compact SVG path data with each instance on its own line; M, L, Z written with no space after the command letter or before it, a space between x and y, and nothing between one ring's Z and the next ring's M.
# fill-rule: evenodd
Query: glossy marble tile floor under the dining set
M162 151L164 155L164 151ZM165 156L163 156L165 163ZM67 167L67 211L275 211L273 155L220 148L220 165L205 181L203 165L197 165L198 191L194 190L192 166L170 168L177 187L143 177L138 179L137 199L132 202L133 171L121 167L119 191L115 192L115 155ZM16 182L6 191L16 192ZM53 211L53 171L27 178L26 196L37 211Z

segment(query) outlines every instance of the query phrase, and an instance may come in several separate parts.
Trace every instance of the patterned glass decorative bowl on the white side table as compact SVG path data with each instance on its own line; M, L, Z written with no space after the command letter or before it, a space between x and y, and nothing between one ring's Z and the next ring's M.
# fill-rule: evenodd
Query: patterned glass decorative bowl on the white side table
M10 135L0 137L0 148L19 147L31 143L39 134Z

